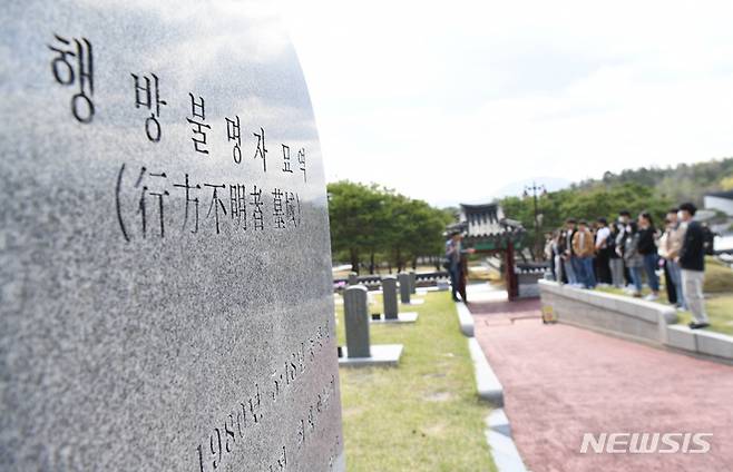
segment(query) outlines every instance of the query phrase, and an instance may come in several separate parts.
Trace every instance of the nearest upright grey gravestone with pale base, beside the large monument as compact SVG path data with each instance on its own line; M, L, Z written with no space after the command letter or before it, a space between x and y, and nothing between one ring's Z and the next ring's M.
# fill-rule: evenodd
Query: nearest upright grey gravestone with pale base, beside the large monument
M345 356L339 358L344 366L397 365L402 355L401 344L371 345L369 337L369 301L363 285L348 287L344 297Z

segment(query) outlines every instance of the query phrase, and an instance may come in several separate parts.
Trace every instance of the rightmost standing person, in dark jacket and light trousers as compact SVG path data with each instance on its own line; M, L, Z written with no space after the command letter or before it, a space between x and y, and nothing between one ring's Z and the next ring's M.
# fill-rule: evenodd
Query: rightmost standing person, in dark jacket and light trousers
M680 205L680 219L687 226L682 242L678 262L682 273L682 291L692 312L692 330L710 326L703 298L705 282L705 233L700 222L694 219L697 208L691 203Z

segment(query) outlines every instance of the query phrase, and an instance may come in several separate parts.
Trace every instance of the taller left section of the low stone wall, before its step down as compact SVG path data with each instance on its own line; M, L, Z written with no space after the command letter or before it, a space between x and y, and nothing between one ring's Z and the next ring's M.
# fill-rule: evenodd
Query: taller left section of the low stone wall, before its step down
M586 291L556 282L538 281L543 309L551 311L560 323L610 334L665 344L667 325L677 322L674 308L623 295Z

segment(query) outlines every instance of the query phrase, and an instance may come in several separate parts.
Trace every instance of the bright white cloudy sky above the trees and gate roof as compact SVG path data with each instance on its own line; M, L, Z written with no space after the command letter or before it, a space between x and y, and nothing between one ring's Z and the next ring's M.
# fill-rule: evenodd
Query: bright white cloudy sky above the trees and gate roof
M328 181L443 206L733 156L733 2L282 1Z

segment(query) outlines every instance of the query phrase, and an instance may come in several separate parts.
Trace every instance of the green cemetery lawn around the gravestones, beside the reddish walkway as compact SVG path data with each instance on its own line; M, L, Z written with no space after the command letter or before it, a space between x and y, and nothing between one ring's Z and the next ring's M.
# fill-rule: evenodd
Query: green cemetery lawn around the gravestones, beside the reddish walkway
M414 295L413 295L414 297ZM478 400L468 343L449 292L433 292L416 324L370 326L372 344L403 344L398 367L341 367L346 469L496 471L486 443L488 404ZM381 295L370 295L370 313ZM336 305L345 344L343 305Z

